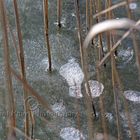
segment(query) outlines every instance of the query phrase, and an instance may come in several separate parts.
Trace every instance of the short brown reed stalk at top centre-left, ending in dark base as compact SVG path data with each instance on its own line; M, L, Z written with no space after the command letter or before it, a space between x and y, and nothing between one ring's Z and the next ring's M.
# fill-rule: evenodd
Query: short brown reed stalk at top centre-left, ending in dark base
M58 27L61 27L61 15L62 15L62 0L57 0L57 22Z

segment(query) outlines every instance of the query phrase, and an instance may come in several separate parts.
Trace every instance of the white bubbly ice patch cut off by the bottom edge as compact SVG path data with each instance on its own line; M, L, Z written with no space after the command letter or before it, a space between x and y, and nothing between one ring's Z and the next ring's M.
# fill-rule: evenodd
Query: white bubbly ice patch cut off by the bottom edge
M64 140L85 140L83 134L73 127L66 127L60 131L60 137Z

